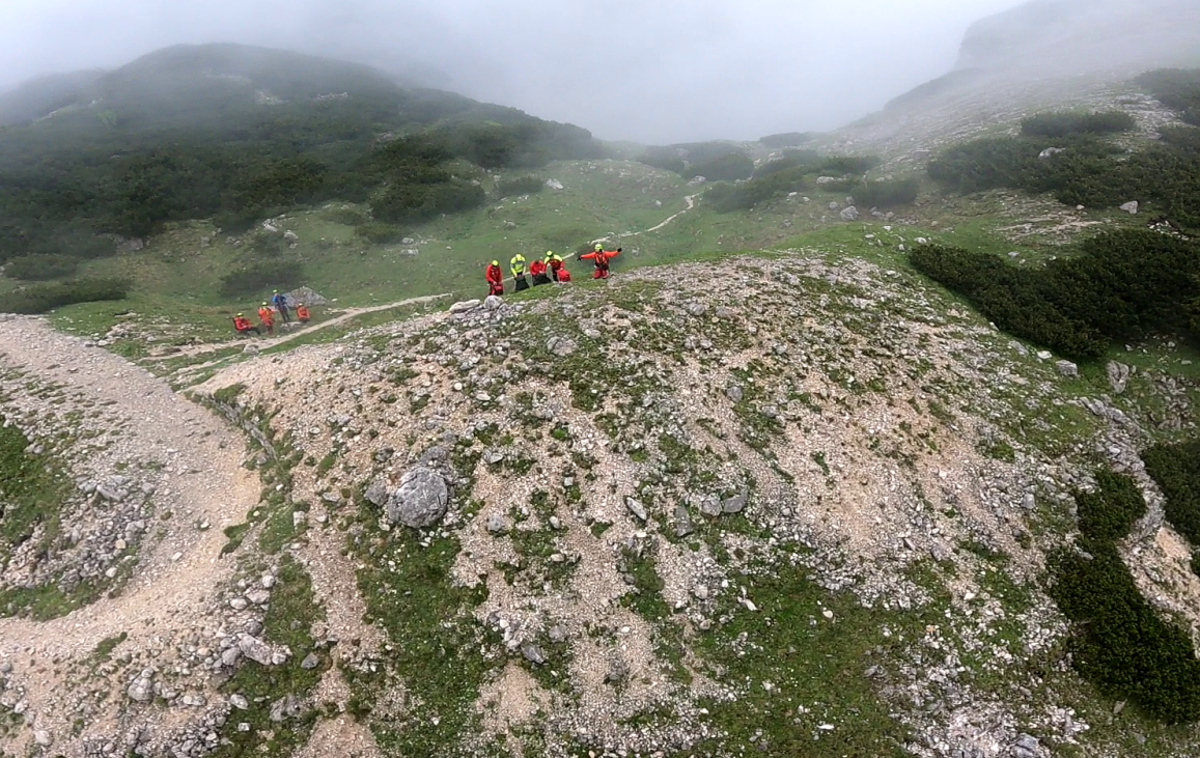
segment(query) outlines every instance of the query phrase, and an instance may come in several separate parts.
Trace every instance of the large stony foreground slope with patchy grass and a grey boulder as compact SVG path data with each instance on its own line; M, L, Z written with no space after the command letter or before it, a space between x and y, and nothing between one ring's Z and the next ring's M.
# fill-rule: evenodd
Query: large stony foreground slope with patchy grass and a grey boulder
M4 333L8 366L46 336ZM245 452L209 422L131 447L181 411L84 390L62 366L103 354L47 349L47 379L5 373L4 413L77 483L6 563L7 753L1194 748L1114 720L1045 595L1105 463L1152 505L1123 548L1139 583L1200 619L1138 457L1139 425L1192 423L1152 415L1182 390L1080 379L907 269L803 249L644 269L251 357L194 390ZM46 393L109 452L64 452L19 399ZM257 504L203 457L234 455ZM211 500L196 471L220 474ZM96 566L112 596L37 621L95 576L89 540L120 551Z

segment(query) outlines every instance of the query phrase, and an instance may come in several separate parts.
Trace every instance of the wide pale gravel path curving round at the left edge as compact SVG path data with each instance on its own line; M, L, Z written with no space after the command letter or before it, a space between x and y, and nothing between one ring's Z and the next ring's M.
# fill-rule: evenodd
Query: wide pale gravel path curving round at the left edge
M232 576L234 561L221 560L222 529L245 521L259 497L259 481L245 470L244 440L202 407L175 393L161 379L124 357L54 331L44 320L10 318L0 325L0 366L65 389L71 405L103 407L122 427L102 465L149 456L163 463L155 482L157 534L114 598L101 598L50 621L0 619L0 662L16 664L11 676L26 690L40 718L61 726L56 690L70 687L59 666L79 661L97 643L126 633L130 644L154 646L173 633L210 622L214 590ZM44 399L10 379L11 404L44 408ZM2 384L2 381L0 381ZM88 461L89 465L100 465ZM73 471L79 475L79 471ZM208 522L206 530L197 529Z

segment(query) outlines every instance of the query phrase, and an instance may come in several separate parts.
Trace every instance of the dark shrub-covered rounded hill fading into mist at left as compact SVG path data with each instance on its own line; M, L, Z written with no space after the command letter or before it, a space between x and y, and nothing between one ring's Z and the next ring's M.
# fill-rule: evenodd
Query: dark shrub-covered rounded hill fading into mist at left
M410 223L481 205L481 170L602 155L576 126L239 44L43 78L2 102L25 122L0 131L0 264L35 257L19 270L40 278L74 270L62 254L107 255L113 235L168 222L246 228L342 199L371 203L373 221Z

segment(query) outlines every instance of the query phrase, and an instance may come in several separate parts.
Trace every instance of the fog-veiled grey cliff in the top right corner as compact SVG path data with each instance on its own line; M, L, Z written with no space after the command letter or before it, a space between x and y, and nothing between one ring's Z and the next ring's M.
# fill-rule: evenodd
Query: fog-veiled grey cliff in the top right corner
M1032 0L976 23L958 67L1052 77L1198 58L1200 5L1189 0Z

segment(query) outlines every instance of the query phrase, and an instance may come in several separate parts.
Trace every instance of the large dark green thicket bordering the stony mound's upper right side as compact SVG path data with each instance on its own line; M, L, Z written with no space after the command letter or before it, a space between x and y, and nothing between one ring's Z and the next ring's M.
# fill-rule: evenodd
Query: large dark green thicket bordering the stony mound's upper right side
M1154 332L1190 335L1198 325L1200 246L1157 231L1102 234L1081 254L1040 269L936 245L910 260L1002 330L1073 357L1099 357L1111 342Z

